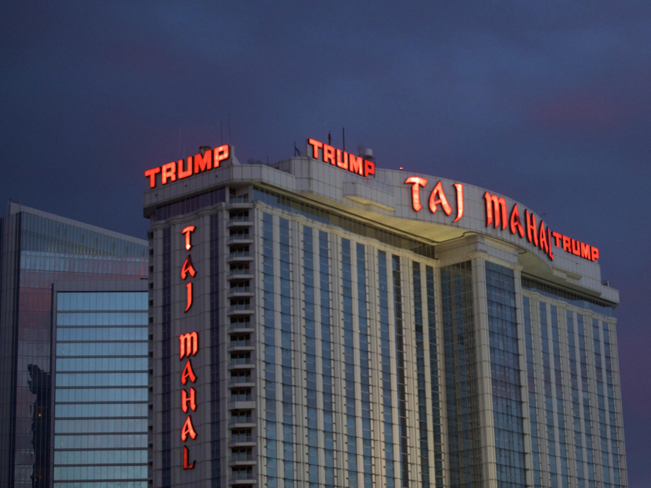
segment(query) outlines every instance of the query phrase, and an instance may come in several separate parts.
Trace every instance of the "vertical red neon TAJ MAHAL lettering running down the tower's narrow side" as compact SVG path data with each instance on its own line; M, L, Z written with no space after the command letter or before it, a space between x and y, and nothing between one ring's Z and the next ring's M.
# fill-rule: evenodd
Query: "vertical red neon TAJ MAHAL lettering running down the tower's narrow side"
M208 152L206 152L206 154L208 154ZM204 167L210 169L210 167L208 166L208 163L210 163L210 161L205 157L204 159L202 159L202 161L204 161ZM179 161L179 163L181 162L182 161ZM196 164L196 158L195 158L195 164ZM190 167L191 167L191 158L188 158L187 168L189 169ZM194 232L194 230L195 230L195 226L189 225L181 231L181 234L184 236L184 241L185 241L184 244L185 244L186 251L192 249L191 235L192 232ZM187 280L188 278L194 278L195 275L197 274L197 271L195 271L195 268L192 265L192 258L190 254L187 254L187 258L183 262L183 265L181 266L180 274L181 274L181 279L184 281ZM187 312L187 310L190 309L191 305L192 305L192 282L188 281L186 283L186 309L184 310L184 312ZM184 366L183 371L181 372L182 385L186 385L188 381L190 383L195 383L197 381L195 372L193 372L192 370L192 363L190 362L190 357L195 356L198 352L199 352L199 334L197 333L197 331L179 334L178 357L181 360L187 358L186 365ZM192 416L190 415L190 412L194 412L197 409L197 391L193 386L190 386L189 392L187 392L186 388L182 388L181 409L183 413L187 414L186 421L184 422L183 427L181 428L181 441L186 442L188 438L189 440L194 441L194 439L197 437L197 431L195 431L195 427L192 424ZM189 455L190 455L190 450L187 446L184 445L183 446L183 468L184 469L193 469L195 467L195 461L189 462Z

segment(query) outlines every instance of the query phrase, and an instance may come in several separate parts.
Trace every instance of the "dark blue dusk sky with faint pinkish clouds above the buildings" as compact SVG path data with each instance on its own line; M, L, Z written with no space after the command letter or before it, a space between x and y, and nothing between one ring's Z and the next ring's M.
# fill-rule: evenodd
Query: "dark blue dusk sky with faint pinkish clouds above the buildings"
M90 5L93 4L93 5ZM305 137L508 195L621 293L631 487L651 480L648 1L5 1L0 201L145 236L143 170ZM271 6L273 5L273 6ZM180 152L179 152L180 148Z

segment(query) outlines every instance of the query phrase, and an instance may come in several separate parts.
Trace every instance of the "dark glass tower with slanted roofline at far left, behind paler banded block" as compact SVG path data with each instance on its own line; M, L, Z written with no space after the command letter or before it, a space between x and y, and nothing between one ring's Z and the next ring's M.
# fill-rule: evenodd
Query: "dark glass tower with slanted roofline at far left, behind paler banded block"
M0 486L50 487L53 283L146 277L146 241L13 202L0 232Z

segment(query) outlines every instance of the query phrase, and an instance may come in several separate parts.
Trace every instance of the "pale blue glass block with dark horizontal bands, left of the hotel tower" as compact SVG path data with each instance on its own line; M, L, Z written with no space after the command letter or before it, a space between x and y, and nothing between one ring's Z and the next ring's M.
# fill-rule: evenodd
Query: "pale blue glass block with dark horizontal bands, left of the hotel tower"
M53 488L146 488L147 284L56 282Z

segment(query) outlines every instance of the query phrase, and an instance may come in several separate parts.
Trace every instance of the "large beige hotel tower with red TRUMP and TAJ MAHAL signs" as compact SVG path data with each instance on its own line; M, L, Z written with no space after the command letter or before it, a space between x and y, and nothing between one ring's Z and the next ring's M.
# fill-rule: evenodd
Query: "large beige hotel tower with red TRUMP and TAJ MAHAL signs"
M150 486L626 487L598 247L306 148L145 172Z

